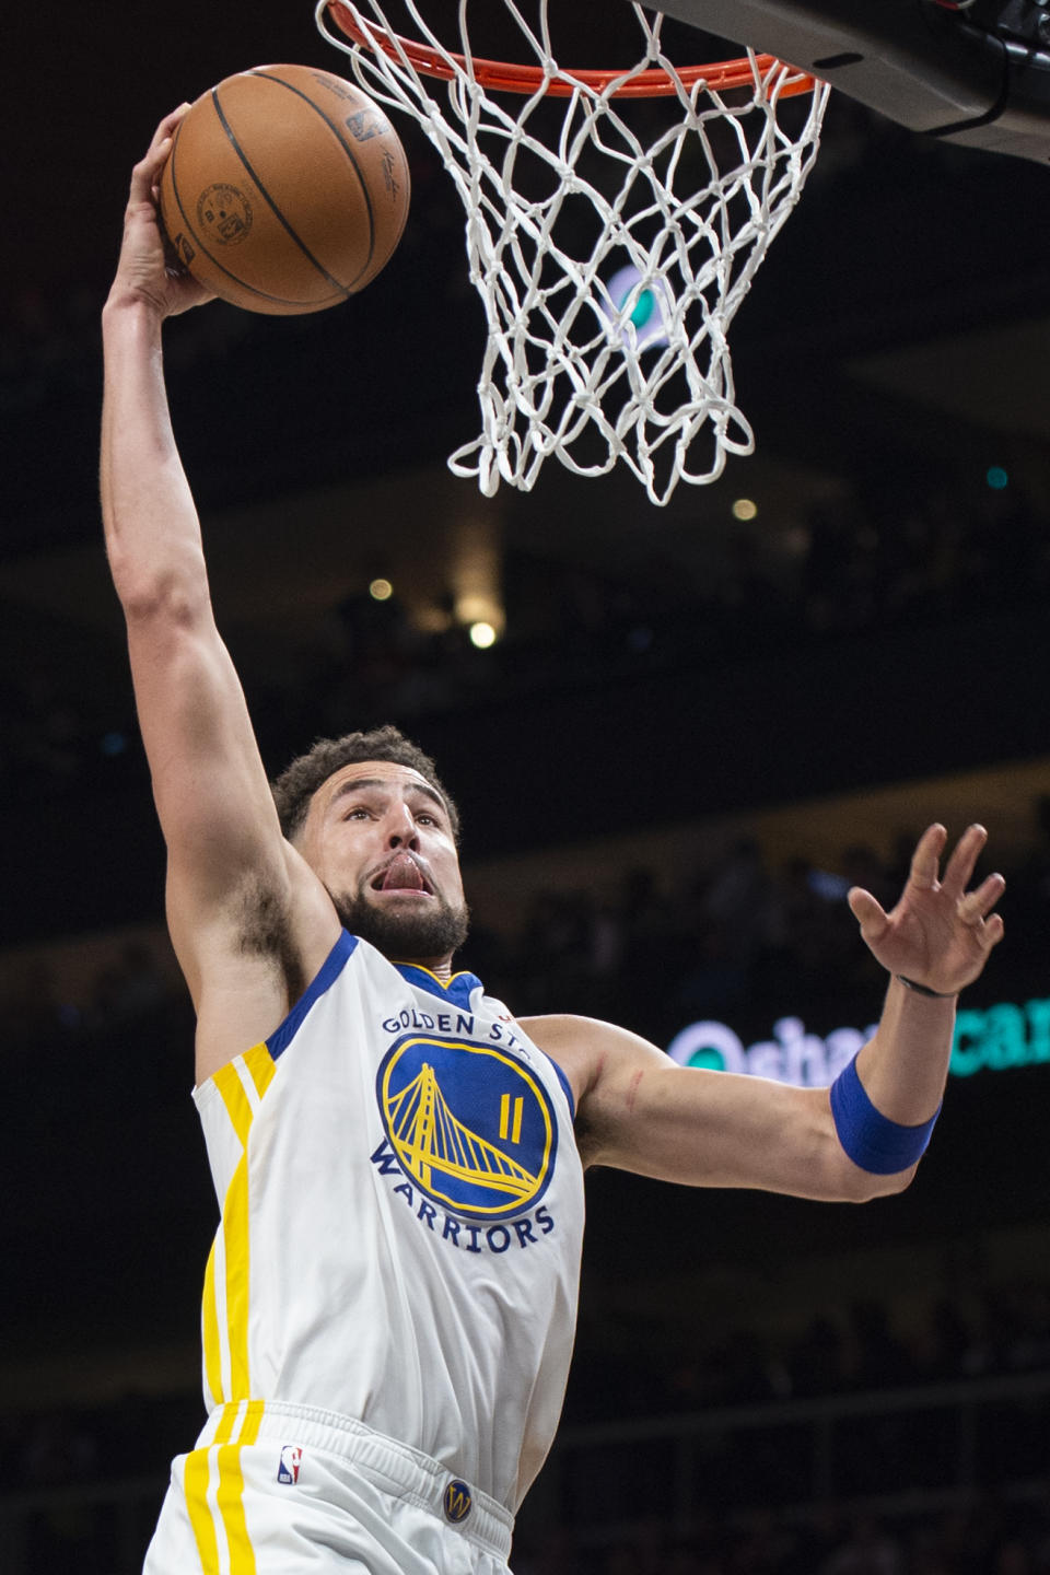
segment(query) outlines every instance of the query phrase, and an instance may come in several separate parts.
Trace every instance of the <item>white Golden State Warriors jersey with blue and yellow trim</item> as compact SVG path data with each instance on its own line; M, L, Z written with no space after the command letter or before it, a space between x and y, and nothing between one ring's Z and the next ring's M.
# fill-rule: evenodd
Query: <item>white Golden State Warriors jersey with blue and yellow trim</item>
M222 1219L205 1399L354 1418L515 1510L557 1425L584 1224L560 1069L472 973L343 932L195 1091Z

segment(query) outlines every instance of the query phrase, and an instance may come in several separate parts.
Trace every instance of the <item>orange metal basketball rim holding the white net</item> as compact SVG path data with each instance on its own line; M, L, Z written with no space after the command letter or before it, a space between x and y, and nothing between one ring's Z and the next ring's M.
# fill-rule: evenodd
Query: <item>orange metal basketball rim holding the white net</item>
M609 98L672 98L677 94L678 85L690 91L696 83L701 83L707 91L724 93L729 88L752 87L756 72L765 79L778 71L790 72L779 83L781 98L812 93L819 83L817 77L786 65L776 55L745 55L740 60L719 60L704 66L680 66L675 68L677 80L661 66L649 66L636 76L630 76L630 71L625 69L576 69L573 66L565 68L560 76L551 77L542 66L518 66L505 60L482 60L471 55L468 65L466 55L457 55L453 50L442 54L431 49L430 44L401 38L400 33L373 38L357 25L342 0L327 0L327 11L354 44L372 50L378 47L394 61L403 55L420 76L436 77L441 82L455 82L460 74L472 76L482 87L497 93L519 93L523 96L546 93L549 98L568 98L581 87L593 93L604 93L612 82L628 77L627 82L612 90Z

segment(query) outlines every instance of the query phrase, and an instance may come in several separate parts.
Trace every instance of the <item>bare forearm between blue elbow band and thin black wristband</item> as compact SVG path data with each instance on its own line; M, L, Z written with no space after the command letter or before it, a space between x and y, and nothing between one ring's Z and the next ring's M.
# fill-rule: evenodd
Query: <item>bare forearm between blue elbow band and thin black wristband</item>
M956 997L934 1000L891 978L878 1030L856 1058L867 1098L889 1121L929 1121L945 1095Z

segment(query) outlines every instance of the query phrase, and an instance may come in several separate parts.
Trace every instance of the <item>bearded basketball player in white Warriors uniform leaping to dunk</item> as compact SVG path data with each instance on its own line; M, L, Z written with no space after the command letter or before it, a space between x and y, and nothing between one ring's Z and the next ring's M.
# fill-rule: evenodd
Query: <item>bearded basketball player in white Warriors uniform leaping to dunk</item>
M148 1575L501 1575L573 1342L582 1173L814 1199L897 1192L940 1107L957 992L1003 923L970 827L921 838L889 973L831 1093L674 1066L634 1035L516 1021L471 973L457 811L395 729L315 747L271 791L217 635L172 435L165 269L135 167L104 312L102 507L128 621L167 915L197 1006L222 1205L203 1299L208 1422L175 1462Z

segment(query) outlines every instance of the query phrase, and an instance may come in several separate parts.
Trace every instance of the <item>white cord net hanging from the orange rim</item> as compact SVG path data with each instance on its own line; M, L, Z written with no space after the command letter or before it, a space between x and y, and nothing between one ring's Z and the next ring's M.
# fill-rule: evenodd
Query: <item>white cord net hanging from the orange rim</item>
M466 208L488 326L482 432L449 465L491 496L501 479L532 488L549 455L582 476L622 460L664 504L680 480L712 482L729 454L754 449L729 324L800 197L828 90L792 98L786 115L800 74L752 54L746 87L688 87L663 54L663 17L639 5L638 63L587 85L554 60L546 0L538 25L505 5L540 66L524 96L477 80L469 0L455 50L401 0L447 82L417 69L379 0L340 0L368 47L334 32L329 0L316 9L365 91L419 121ZM667 98L616 96L652 68L667 72Z

